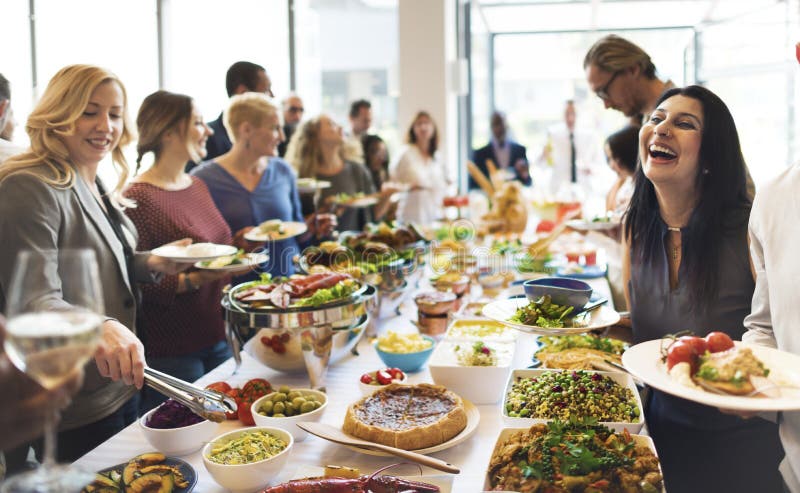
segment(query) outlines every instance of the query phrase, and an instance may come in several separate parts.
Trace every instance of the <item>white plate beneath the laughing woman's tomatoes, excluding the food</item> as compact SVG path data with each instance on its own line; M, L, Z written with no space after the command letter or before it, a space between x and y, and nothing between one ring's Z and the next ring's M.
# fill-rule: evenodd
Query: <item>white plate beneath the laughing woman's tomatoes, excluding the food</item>
M743 345L736 342L737 346ZM753 350L770 370L770 380L787 380L800 385L800 356L765 346L744 344ZM661 362L661 340L647 341L628 348L622 354L622 364L631 374L653 388L683 399L712 407L736 411L798 411L800 390L782 390L781 397L741 397L719 395L694 389L672 379L667 366Z

